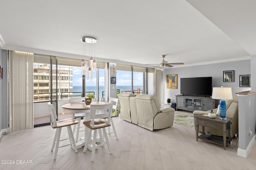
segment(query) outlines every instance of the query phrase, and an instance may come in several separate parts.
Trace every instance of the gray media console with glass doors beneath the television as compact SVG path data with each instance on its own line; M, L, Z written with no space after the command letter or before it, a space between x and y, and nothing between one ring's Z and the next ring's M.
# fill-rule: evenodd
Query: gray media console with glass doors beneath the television
M217 108L218 101L219 100L206 97L176 95L176 109L207 111Z

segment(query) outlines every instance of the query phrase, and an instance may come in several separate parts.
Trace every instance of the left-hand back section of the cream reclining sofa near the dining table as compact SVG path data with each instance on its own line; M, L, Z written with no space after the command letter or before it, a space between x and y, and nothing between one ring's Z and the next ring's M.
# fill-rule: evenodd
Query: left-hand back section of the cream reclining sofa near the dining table
M134 104L135 102L133 102L133 100L135 100L135 94L133 94L133 93L120 93L119 96L118 96L118 99L119 99L119 102L120 102L120 117L121 117L121 119L126 120L128 122L132 122L134 117L137 117L136 113L134 113L134 111L135 111L134 108L136 108L136 105L132 106L132 113L131 113L130 98L133 98L131 100L132 100L132 104ZM133 117L131 117L131 116L133 116ZM132 122L132 123L134 123L134 122Z

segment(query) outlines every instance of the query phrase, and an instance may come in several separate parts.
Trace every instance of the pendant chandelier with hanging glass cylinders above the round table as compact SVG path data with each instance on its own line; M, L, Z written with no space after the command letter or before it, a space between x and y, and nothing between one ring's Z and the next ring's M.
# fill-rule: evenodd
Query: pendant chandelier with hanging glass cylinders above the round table
M84 42L84 59L82 60L81 67L82 67L82 75L88 74L88 79L92 80L92 71L97 70L97 61L95 59L95 43L97 40L93 37L83 37L81 39ZM90 56L90 61L89 64L85 60L86 57L86 43L89 44L89 56ZM93 44L93 45L92 45ZM92 47L94 46L94 48ZM94 51L94 57L92 57L92 52Z

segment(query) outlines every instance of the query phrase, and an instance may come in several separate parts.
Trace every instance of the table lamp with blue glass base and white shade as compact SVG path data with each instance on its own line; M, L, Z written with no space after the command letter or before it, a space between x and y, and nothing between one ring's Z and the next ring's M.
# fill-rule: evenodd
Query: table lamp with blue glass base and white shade
M226 101L232 100L231 87L214 87L212 88L212 99L220 100L220 119L226 120Z

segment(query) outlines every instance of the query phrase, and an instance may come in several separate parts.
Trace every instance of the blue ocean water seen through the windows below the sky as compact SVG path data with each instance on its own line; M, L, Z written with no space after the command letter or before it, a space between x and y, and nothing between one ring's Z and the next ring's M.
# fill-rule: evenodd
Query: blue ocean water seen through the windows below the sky
M140 90L143 90L143 86L133 86L133 90L137 90L137 88L140 88ZM116 89L120 89L120 91L130 91L131 86L116 86ZM82 93L82 86L73 86L73 89L70 89L72 92L81 92ZM104 86L99 86L99 92L100 92L100 98L102 97L102 92L104 92ZM96 95L96 86L86 86L86 94L93 93Z

